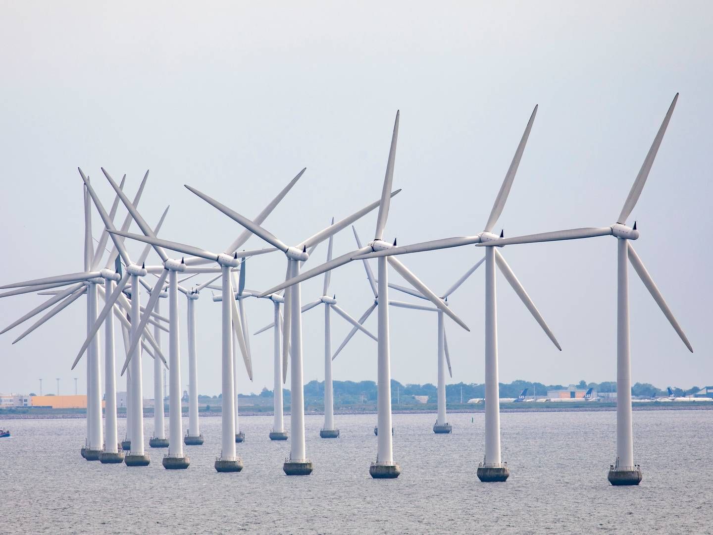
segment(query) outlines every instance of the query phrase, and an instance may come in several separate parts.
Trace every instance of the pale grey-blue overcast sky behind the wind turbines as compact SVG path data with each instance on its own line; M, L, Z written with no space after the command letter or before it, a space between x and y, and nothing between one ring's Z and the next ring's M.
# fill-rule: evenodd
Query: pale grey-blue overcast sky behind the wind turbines
M170 204L160 235L212 250L224 249L242 228L184 183L252 218L306 166L264 224L286 243L299 243L333 215L379 198L397 109L394 188L403 191L392 201L386 240L481 232L535 104L538 115L496 231L611 225L679 91L630 223L638 221L635 248L695 352L630 269L632 379L660 387L713 384L706 241L713 226L711 5L386 4L0 1L1 282L82 270L78 166L106 205L113 192L101 166L115 178L126 173L130 195L150 169L140 203L145 218L155 224ZM374 212L356 224L362 240L373 238L375 220ZM95 212L96 238L100 223ZM263 246L255 237L245 245ZM354 248L349 229L334 240L335 256ZM130 244L133 255L140 249ZM326 250L320 245L305 267L322 263ZM502 253L563 351L498 275L501 381L615 379L615 240ZM401 260L440 293L482 255L469 246ZM275 285L284 262L282 254L250 260L247 286ZM155 253L148 263L158 263ZM389 276L403 283L395 272ZM483 280L481 268L450 299L471 332L446 320L449 382L484 380ZM321 292L321 277L305 283L303 302ZM335 271L331 292L354 317L373 300L361 263ZM0 323L43 299L0 300ZM16 345L31 322L0 336L0 392L37 392L39 377L45 392L53 392L56 377L61 392L73 393L73 377L84 391L84 365L73 372L70 365L86 334L85 303L76 301ZM246 305L251 332L272 321L270 302ZM199 390L217 394L220 305L206 291L197 312ZM180 315L185 387L185 300ZM390 315L392 377L435 383L436 315ZM376 313L366 327L376 333ZM333 315L333 349L348 331ZM321 309L305 313L303 332L305 382L322 380ZM272 335L251 336L251 345L255 382L241 370L240 392L272 389ZM121 342L117 347L123 351ZM144 388L151 397L148 361ZM356 335L334 361L334 379L375 380L376 342Z

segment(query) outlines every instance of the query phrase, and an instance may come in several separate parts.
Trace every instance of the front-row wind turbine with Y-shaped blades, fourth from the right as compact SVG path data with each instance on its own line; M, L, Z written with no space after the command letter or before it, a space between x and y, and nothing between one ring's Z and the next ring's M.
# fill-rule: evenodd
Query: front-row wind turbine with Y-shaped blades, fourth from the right
M287 257L286 279L299 275L302 263L307 261L309 254L312 250L314 250L314 247L316 247L318 243L326 240L334 233L339 232L339 230L342 230L347 225L351 225L354 221L371 212L371 210L374 210L374 208L379 205L379 201L371 203L365 208L362 208L349 217L339 221L339 223L330 225L329 227L320 230L319 233L307 238L307 240L290 247L282 240L275 237L275 235L268 232L260 225L257 225L254 221L251 221L235 212L235 210L227 208L227 206L219 203L217 200L209 197L208 195L205 195L205 193L201 193L195 188L191 188L189 185L186 185L186 188L198 195L207 203L213 205L232 220L240 223L240 225L245 227L247 230L250 230L253 234L259 236L267 243L270 243L270 245L273 245L275 248L281 250ZM390 193L389 191L386 191L384 196L386 198L391 198L391 196L396 195L396 193L399 192L396 191L394 193ZM309 253L307 252L308 248L310 249ZM265 295L270 293L273 292L265 292L260 297L265 297ZM226 298L224 281L223 299ZM295 285L294 287L290 287L286 290L284 300L286 312L283 325L282 364L284 370L286 371L287 352L291 346L292 366L290 368L290 389L292 395L290 396L290 427L292 437L290 439L289 457L282 465L282 469L287 475L309 475L312 473L312 461L307 459L304 445L304 380L302 377L302 317L300 314L301 295L299 285ZM290 338L291 342L288 344L288 340ZM286 379L286 377L283 377L283 381L284 379Z

